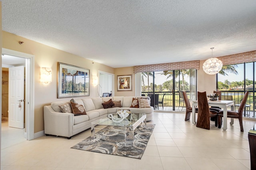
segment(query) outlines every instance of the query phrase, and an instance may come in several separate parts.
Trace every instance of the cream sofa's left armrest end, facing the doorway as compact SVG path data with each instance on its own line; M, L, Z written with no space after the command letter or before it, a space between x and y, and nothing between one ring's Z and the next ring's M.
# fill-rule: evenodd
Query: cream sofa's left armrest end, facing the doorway
M56 112L51 106L44 106L44 133L63 137L72 136L74 114Z

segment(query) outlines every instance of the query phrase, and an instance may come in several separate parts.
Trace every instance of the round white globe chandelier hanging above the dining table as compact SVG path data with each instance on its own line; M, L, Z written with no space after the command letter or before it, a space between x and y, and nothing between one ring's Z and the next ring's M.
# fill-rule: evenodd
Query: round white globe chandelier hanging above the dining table
M214 47L210 48L214 49ZM210 58L203 64L203 70L207 74L217 74L222 69L222 61L217 58Z

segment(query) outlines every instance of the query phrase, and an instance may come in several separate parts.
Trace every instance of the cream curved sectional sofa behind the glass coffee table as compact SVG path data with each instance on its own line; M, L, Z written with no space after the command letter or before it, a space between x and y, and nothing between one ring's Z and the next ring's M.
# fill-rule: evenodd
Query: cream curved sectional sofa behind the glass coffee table
M116 113L119 109L130 109L132 113L146 113L146 121L152 120L154 108L130 107L132 104L132 98L145 98L145 96L113 96L84 99L74 98L75 102L84 106L86 115L63 113L59 105L69 102L68 100L52 102L50 106L44 106L44 133L46 135L56 135L70 139L72 136L89 129L92 121L106 117L110 113ZM104 109L102 103L110 99L113 101L121 101L122 107Z

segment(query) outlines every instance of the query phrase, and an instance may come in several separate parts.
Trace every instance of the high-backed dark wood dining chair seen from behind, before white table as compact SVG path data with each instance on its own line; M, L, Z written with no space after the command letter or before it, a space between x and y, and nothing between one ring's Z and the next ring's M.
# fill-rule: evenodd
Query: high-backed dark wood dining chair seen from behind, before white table
M218 112L210 110L206 92L197 92L198 98L198 115L196 127L210 130L210 117L217 117L215 119L215 126L218 126Z

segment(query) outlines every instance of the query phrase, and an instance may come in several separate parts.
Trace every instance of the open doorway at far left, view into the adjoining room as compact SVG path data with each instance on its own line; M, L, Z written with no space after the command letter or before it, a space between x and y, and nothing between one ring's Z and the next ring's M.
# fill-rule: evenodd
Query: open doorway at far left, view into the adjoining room
M2 149L10 147L14 144L20 143L26 140L25 137L25 107L23 102L20 102L20 108L12 107L16 102L16 90L12 89L12 70L16 68L22 69L23 81L20 81L22 87L19 87L22 100L24 96L24 69L26 69L26 59L22 57L15 57L11 55L2 54ZM15 81L16 82L16 81ZM19 83L19 84L20 84ZM19 85L20 86L20 85ZM16 88L17 89L17 88ZM13 96L15 94L15 96ZM12 102L14 100L14 102ZM10 102L11 101L11 102ZM23 106L23 107L22 107ZM18 106L19 107L19 106ZM20 115L20 116L17 116ZM19 124L18 126L16 124Z

